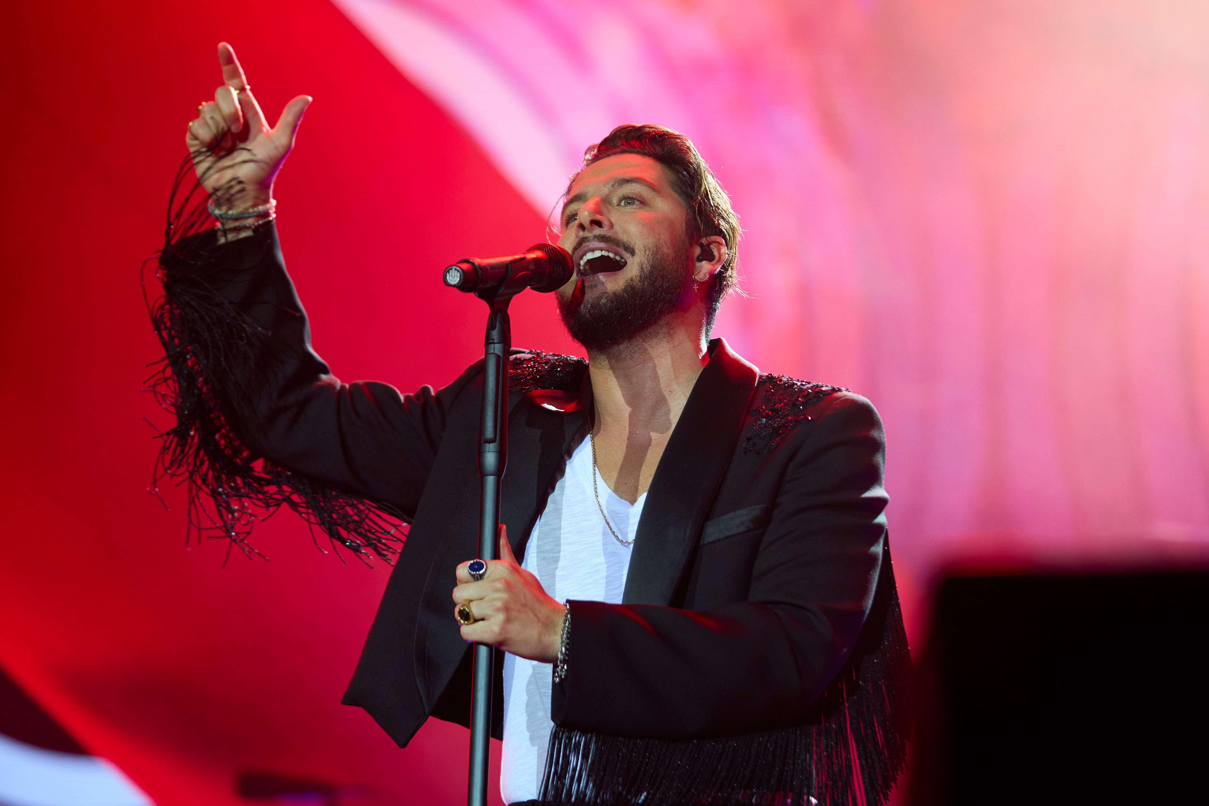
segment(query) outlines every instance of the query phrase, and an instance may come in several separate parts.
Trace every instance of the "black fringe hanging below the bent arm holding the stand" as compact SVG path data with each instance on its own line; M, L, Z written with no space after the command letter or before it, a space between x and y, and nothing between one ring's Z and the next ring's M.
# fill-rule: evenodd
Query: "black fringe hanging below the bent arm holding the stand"
M688 742L556 725L539 802L881 806L907 764L912 731L910 650L889 576L852 657L820 697L816 719Z

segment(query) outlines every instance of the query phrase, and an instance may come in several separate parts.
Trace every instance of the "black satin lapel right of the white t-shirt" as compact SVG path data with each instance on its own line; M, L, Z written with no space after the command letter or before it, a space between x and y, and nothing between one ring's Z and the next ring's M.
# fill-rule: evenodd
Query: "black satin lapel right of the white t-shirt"
M735 452L758 370L715 340L647 492L623 602L669 604Z

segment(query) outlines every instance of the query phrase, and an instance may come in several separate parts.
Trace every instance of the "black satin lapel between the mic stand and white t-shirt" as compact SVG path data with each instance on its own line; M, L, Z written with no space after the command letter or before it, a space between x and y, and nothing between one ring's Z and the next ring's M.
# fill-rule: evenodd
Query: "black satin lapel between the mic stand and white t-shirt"
M586 379L574 411L551 411L531 395L513 406L508 421L508 468L504 471L499 522L508 527L508 543L519 561L525 558L528 533L545 509L555 474L583 427L591 407L591 384ZM586 399L583 398L586 394ZM586 405L585 405L586 404Z

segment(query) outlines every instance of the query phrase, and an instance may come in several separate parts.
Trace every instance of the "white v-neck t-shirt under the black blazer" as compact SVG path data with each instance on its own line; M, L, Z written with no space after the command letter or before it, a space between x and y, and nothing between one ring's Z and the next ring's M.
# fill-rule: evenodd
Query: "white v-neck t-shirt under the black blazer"
M643 493L632 505L619 498L596 471L591 440L567 459L567 470L542 512L521 563L559 602L586 599L620 604L630 570L632 546L621 545L601 517L592 494L592 477L601 506L623 540L638 530ZM572 649L574 651L574 625ZM504 655L504 750L499 790L505 804L537 799L550 742L550 690L554 665Z

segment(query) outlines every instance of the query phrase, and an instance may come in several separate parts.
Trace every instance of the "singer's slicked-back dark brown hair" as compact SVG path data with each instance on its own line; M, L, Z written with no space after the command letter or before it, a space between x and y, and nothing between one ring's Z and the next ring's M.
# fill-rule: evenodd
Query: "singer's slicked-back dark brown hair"
M671 174L672 190L688 208L684 228L688 242L722 236L727 243L727 260L710 280L706 295L706 332L713 329L722 298L735 288L735 259L739 254L739 216L730 207L730 197L722 190L710 166L696 152L693 143L673 129L664 126L626 123L618 126L596 145L584 151L584 164L567 184L571 186L588 166L619 153L637 153L650 157Z

